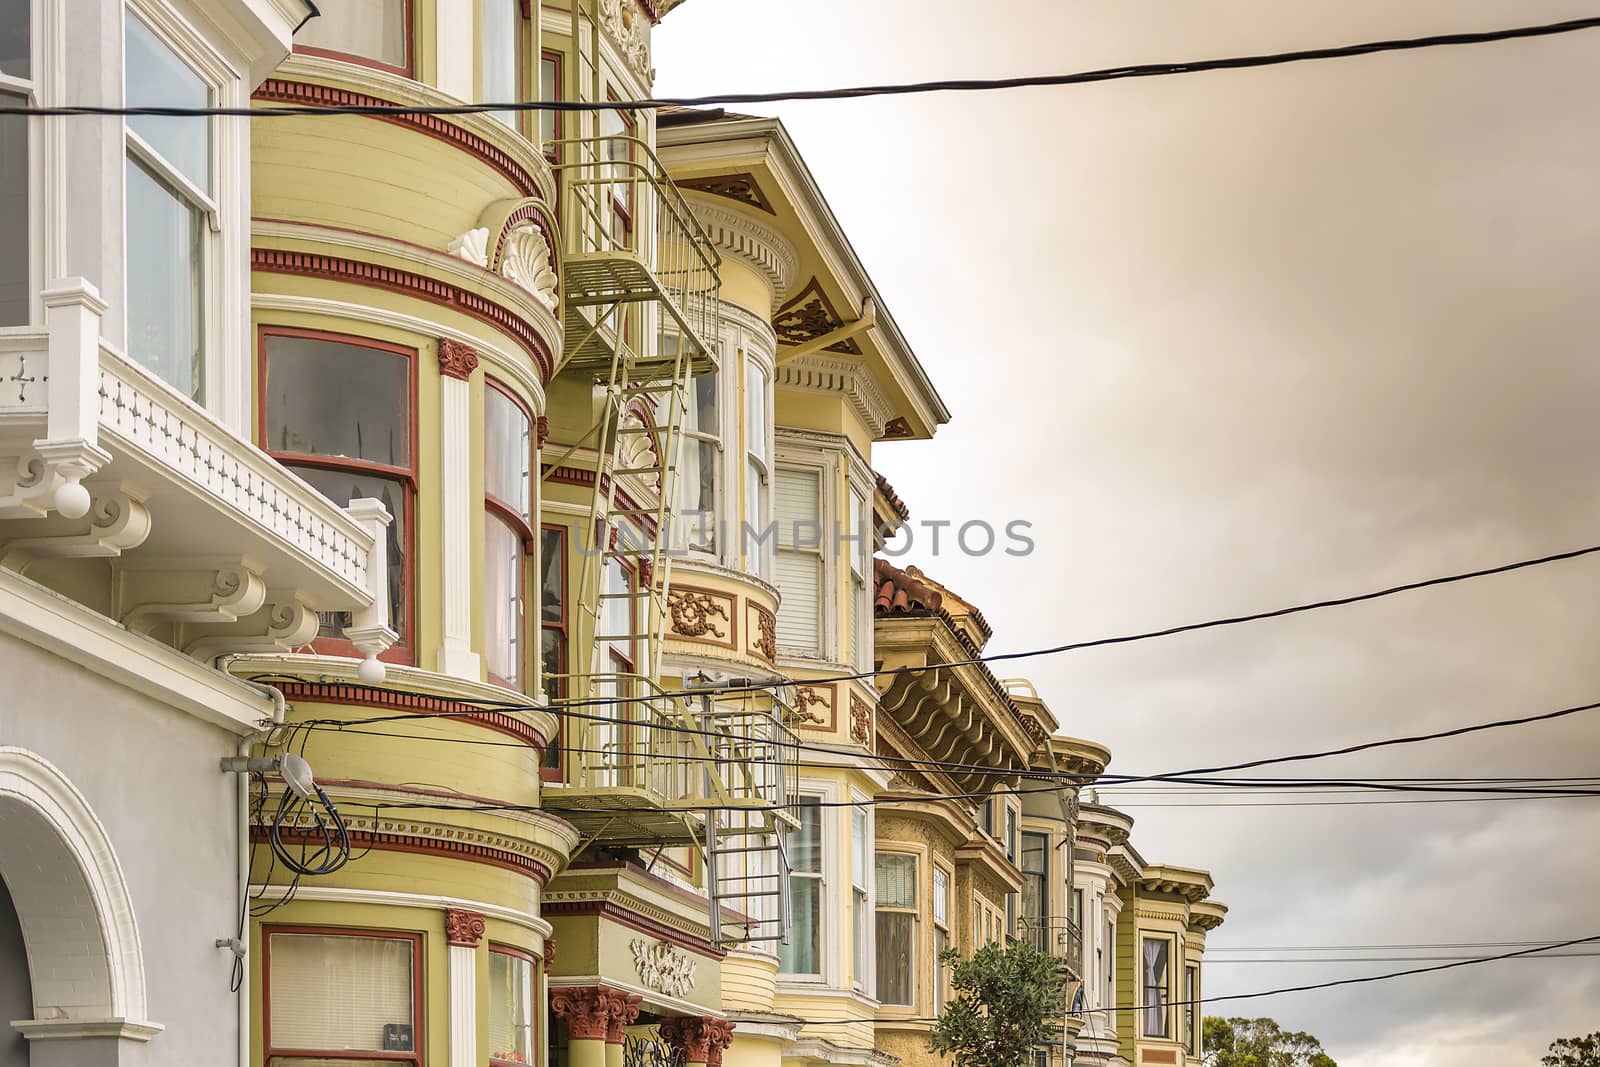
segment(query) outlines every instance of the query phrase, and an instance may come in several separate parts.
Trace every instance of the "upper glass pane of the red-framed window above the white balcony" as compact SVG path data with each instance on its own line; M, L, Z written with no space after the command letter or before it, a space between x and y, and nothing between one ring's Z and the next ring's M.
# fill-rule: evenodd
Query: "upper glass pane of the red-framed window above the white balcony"
M411 360L320 338L267 336L267 448L411 466Z

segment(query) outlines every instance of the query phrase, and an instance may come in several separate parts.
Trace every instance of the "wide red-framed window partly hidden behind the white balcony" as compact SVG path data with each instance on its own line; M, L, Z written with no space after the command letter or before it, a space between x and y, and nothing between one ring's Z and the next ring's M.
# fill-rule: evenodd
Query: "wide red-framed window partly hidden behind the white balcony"
M262 446L341 507L384 502L389 523L389 625L410 657L411 445L414 349L342 334L272 328L261 336ZM341 637L338 616L320 638ZM346 645L326 651L350 651Z

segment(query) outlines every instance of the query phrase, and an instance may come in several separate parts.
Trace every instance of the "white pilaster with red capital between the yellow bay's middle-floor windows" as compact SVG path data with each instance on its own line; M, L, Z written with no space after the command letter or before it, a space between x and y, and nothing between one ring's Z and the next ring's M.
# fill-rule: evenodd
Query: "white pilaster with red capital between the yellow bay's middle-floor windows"
M443 512L445 640L437 670L478 681L472 651L472 390L467 378L477 354L448 338L438 342L440 370L440 510Z

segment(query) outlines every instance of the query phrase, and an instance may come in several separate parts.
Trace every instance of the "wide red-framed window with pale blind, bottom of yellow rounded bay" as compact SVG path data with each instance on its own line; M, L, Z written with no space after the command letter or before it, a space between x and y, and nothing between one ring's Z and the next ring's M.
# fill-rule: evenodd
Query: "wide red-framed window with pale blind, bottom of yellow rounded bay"
M264 931L267 1062L421 1064L421 939Z

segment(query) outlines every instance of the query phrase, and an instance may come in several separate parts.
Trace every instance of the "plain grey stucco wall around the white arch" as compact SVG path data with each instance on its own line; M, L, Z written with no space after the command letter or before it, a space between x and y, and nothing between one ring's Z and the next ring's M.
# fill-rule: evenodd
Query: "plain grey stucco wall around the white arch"
M0 691L0 744L43 757L85 795L126 877L149 1021L166 1027L144 1054L165 1064L234 1062L232 958L213 942L238 923L235 779L218 766L237 739L6 635L0 678L22 680ZM8 958L3 939L0 923L0 960ZM0 1017L30 1016L29 1005Z

